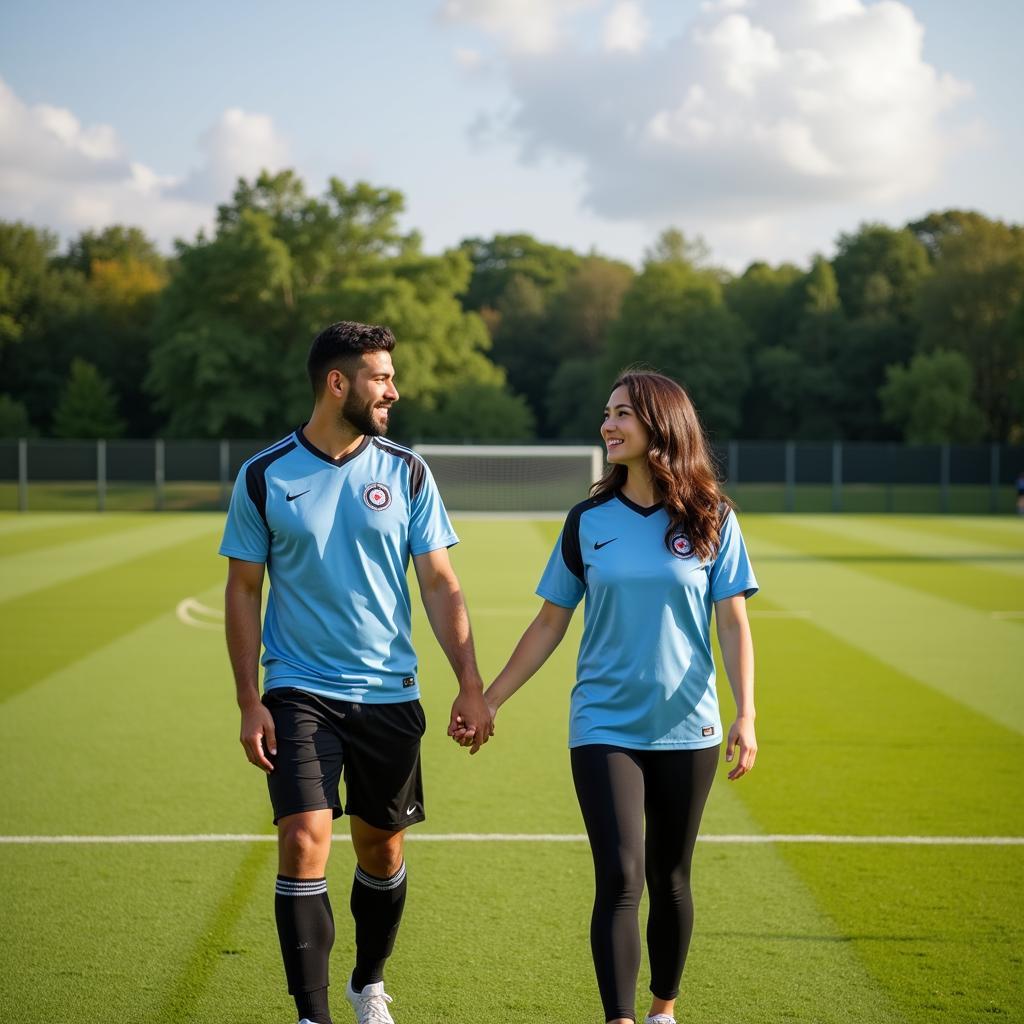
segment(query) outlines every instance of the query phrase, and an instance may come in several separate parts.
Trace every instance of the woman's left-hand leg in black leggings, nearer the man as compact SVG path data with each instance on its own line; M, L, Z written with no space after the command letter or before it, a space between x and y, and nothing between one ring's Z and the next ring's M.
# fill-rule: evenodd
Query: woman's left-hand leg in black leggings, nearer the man
M572 780L594 855L590 944L606 1021L636 1020L643 893L643 773L635 752L570 751Z

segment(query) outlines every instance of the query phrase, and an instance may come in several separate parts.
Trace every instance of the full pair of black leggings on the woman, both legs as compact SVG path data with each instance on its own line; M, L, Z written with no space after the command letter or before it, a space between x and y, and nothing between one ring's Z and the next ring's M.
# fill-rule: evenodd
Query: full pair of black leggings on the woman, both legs
M636 1019L638 908L645 877L650 990L659 999L679 994L693 932L690 860L719 750L592 745L570 751L572 780L594 854L590 943L605 1020Z

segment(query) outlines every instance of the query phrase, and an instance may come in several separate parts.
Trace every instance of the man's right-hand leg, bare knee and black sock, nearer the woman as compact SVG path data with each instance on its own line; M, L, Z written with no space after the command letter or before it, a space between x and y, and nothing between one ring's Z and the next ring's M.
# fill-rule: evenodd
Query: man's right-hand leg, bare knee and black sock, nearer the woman
M360 817L349 818L356 868L351 909L355 920L355 968L352 990L384 980L384 963L394 948L406 906L404 829L377 828Z

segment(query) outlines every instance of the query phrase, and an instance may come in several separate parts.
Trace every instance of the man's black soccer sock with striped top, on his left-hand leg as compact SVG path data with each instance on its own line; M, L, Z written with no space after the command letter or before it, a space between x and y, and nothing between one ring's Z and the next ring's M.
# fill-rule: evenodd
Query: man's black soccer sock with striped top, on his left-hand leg
M327 879L278 876L273 912L288 991L299 1018L333 1024L327 1004L328 961L334 945L334 914Z

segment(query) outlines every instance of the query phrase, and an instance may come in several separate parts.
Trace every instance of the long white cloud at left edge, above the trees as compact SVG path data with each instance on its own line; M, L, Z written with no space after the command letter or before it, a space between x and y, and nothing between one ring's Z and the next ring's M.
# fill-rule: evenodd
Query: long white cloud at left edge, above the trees
M166 246L213 222L236 179L287 163L271 121L225 111L200 139L202 160L183 179L130 159L110 125L72 111L29 106L0 79L0 217L71 234L135 224Z

